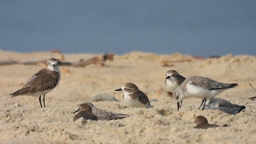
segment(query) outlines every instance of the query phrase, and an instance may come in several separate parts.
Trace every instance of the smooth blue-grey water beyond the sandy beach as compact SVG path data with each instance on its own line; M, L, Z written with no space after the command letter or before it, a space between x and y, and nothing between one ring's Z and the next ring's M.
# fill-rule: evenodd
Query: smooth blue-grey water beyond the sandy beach
M1 0L0 49L256 55L256 1Z

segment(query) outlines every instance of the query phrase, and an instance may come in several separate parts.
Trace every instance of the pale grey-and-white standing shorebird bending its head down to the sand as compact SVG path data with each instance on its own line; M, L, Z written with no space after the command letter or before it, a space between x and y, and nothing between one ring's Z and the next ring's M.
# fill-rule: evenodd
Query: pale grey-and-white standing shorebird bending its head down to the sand
M203 76L190 76L180 87L174 90L173 97L177 100L178 110L180 102L189 97L202 98L200 108L203 103L205 106L206 99L214 98L224 90L235 86L238 86L238 84L225 84ZM204 110L204 106L202 110Z

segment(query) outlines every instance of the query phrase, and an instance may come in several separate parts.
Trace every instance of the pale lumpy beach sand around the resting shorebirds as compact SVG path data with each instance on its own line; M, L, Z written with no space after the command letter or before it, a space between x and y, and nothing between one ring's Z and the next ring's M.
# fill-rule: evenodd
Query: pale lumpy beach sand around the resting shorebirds
M0 59L14 60L51 58L48 52L20 54L0 50ZM87 59L93 54L64 54L65 61ZM162 67L162 60L192 62L173 63L173 67ZM70 70L62 73L60 84L46 94L46 108L40 108L38 98L9 94L22 88L26 80L42 66L15 64L0 66L0 143L13 144L100 144L100 143L218 143L249 144L256 142L256 102L248 100L256 96L250 87L256 87L256 57L223 56L220 59L196 60L181 54L156 55L132 52L115 56L107 67L89 65L85 68L60 67ZM184 77L200 75L219 82L238 83L237 88L226 90L218 98L234 104L245 105L239 114L230 115L218 110L198 110L202 100L186 99L180 111L176 101L167 94L154 90L165 88L165 73L176 70ZM145 92L153 108L126 108L122 104L122 92L115 92L122 84L132 82ZM82 125L73 122L77 104L90 101L99 93L108 93L121 102L94 102L93 104L111 112L134 114L122 120L89 121ZM18 102L22 107L14 108ZM194 118L205 116L210 124L229 127L194 129ZM154 116L149 120L146 117ZM155 122L154 122L155 121Z

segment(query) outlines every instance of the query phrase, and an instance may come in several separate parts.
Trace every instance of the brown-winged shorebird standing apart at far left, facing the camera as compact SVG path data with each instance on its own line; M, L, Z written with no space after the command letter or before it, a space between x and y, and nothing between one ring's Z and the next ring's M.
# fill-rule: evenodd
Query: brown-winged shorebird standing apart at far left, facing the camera
M39 96L40 106L42 108L41 96L52 91L60 82L60 70L58 60L51 58L47 61L47 67L43 68L36 74L34 74L24 85L24 87L12 94L11 98L15 96ZM45 108L45 100L43 97L43 103Z

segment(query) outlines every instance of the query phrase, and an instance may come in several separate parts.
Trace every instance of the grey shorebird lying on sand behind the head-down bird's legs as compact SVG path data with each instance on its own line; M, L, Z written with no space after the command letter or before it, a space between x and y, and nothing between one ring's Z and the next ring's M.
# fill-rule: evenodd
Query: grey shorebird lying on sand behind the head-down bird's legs
M202 108L202 106L200 107ZM232 104L227 100L223 100L221 98L211 98L207 100L207 103L204 107L205 109L213 109L213 110L220 110L227 114L237 114L245 109L245 106L240 106L237 104Z

